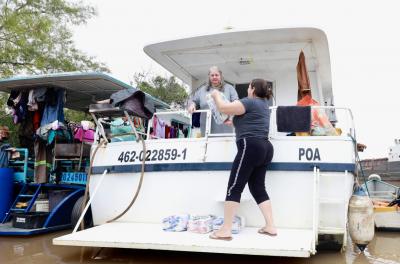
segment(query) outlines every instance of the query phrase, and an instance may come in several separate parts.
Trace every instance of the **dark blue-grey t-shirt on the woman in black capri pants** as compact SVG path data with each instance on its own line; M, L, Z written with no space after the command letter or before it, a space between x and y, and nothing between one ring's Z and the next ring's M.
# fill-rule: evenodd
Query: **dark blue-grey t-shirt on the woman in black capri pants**
M268 138L270 102L261 98L242 98L239 100L246 110L243 115L233 117L236 140L248 137Z

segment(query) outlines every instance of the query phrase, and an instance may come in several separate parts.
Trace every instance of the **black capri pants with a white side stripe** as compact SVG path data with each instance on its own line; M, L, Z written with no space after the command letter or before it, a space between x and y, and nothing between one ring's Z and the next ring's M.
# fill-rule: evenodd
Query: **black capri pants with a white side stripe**
M225 200L239 203L246 183L257 204L269 200L265 173L274 156L274 147L268 139L254 137L239 139L236 145L238 153L232 164Z

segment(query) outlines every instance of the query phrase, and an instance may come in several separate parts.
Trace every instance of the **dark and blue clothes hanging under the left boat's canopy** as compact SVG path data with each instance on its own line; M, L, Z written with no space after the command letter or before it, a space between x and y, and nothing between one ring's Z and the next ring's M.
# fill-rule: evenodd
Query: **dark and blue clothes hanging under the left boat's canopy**
M19 124L20 146L35 153L35 182L48 182L53 161L52 148L56 136L66 130L64 120L65 90L42 87L13 90L7 106L15 124ZM64 134L68 136L68 134Z

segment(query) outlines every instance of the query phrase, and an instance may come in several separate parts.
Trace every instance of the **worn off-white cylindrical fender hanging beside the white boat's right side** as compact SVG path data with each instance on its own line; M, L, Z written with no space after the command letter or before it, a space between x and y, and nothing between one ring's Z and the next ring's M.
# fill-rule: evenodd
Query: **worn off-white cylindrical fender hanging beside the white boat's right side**
M356 188L349 201L349 232L361 251L374 238L374 207L361 187Z

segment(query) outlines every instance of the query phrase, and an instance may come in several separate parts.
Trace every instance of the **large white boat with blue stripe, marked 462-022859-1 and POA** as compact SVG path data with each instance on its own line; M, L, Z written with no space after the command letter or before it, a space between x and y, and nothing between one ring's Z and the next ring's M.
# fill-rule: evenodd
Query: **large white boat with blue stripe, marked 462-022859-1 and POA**
M355 130L351 111L332 106L331 65L323 31L292 28L229 32L157 43L144 50L192 88L206 80L211 65L221 68L225 80L235 85L239 94L252 78L271 81L275 106L269 137L275 154L266 187L278 236L257 233L263 217L247 189L238 212L246 226L232 241L211 240L208 234L163 231L161 221L169 215L223 215L230 166L236 154L235 138L211 134L208 112L204 137L151 139L148 131L140 193L133 206L113 222L108 221L128 207L138 188L143 145L133 141L101 146L90 179L95 226L55 238L54 244L309 257L316 253L319 238L328 234L345 246L348 201L356 170ZM277 107L297 101L296 64L302 50L313 97L332 121L338 121L343 131L340 136L287 136L277 131ZM185 111L157 115L167 121L179 118L191 122Z

